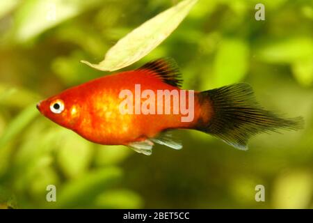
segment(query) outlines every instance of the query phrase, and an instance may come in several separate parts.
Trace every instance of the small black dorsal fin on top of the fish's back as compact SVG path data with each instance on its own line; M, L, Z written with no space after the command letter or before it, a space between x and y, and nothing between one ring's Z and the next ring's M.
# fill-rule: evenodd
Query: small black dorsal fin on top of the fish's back
M156 61L146 63L137 70L150 70L153 75L159 77L164 83L177 87L182 86L182 75L174 59L157 59Z

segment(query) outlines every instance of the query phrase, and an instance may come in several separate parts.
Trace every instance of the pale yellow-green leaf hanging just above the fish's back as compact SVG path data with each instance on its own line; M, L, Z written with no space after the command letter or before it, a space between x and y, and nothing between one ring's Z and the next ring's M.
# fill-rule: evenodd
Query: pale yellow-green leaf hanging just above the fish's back
M98 70L119 70L149 54L184 20L198 0L184 0L163 11L120 39L99 64L81 61Z

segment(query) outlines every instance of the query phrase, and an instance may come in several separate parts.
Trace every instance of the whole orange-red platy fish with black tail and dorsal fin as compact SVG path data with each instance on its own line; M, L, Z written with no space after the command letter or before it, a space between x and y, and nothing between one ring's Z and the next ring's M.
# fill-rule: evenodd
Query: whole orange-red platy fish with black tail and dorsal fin
M125 145L150 155L154 144L182 148L171 130L193 129L248 149L262 132L298 130L303 118L282 118L263 109L245 83L209 91L181 89L172 59L158 59L137 70L120 72L67 89L38 103L58 125L103 145Z

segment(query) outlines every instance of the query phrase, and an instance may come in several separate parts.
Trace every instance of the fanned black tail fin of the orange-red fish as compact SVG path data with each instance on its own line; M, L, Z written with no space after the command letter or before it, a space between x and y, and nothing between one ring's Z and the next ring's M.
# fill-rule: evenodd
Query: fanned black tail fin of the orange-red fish
M248 149L248 139L255 134L303 128L302 117L281 118L275 112L263 109L248 84L202 91L199 97L202 106L210 106L211 118L209 123L200 121L196 129L242 150Z

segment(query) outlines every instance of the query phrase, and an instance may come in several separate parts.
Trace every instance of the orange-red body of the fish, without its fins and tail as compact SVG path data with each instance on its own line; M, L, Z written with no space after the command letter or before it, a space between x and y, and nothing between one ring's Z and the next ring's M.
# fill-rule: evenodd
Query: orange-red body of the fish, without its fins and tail
M135 85L141 86L141 92L149 89L155 95L157 90L180 91L178 87L162 82L145 70L135 70L101 77L67 89L41 102L40 107L45 109L40 111L52 121L90 141L109 145L128 144L137 139L155 137L166 129L189 128L195 123L182 122L182 114L121 114L120 104L125 99L119 97L120 92L129 89L135 93ZM49 109L55 100L66 102L61 115ZM164 104L166 102L163 100L163 107ZM194 120L197 117L198 113Z

